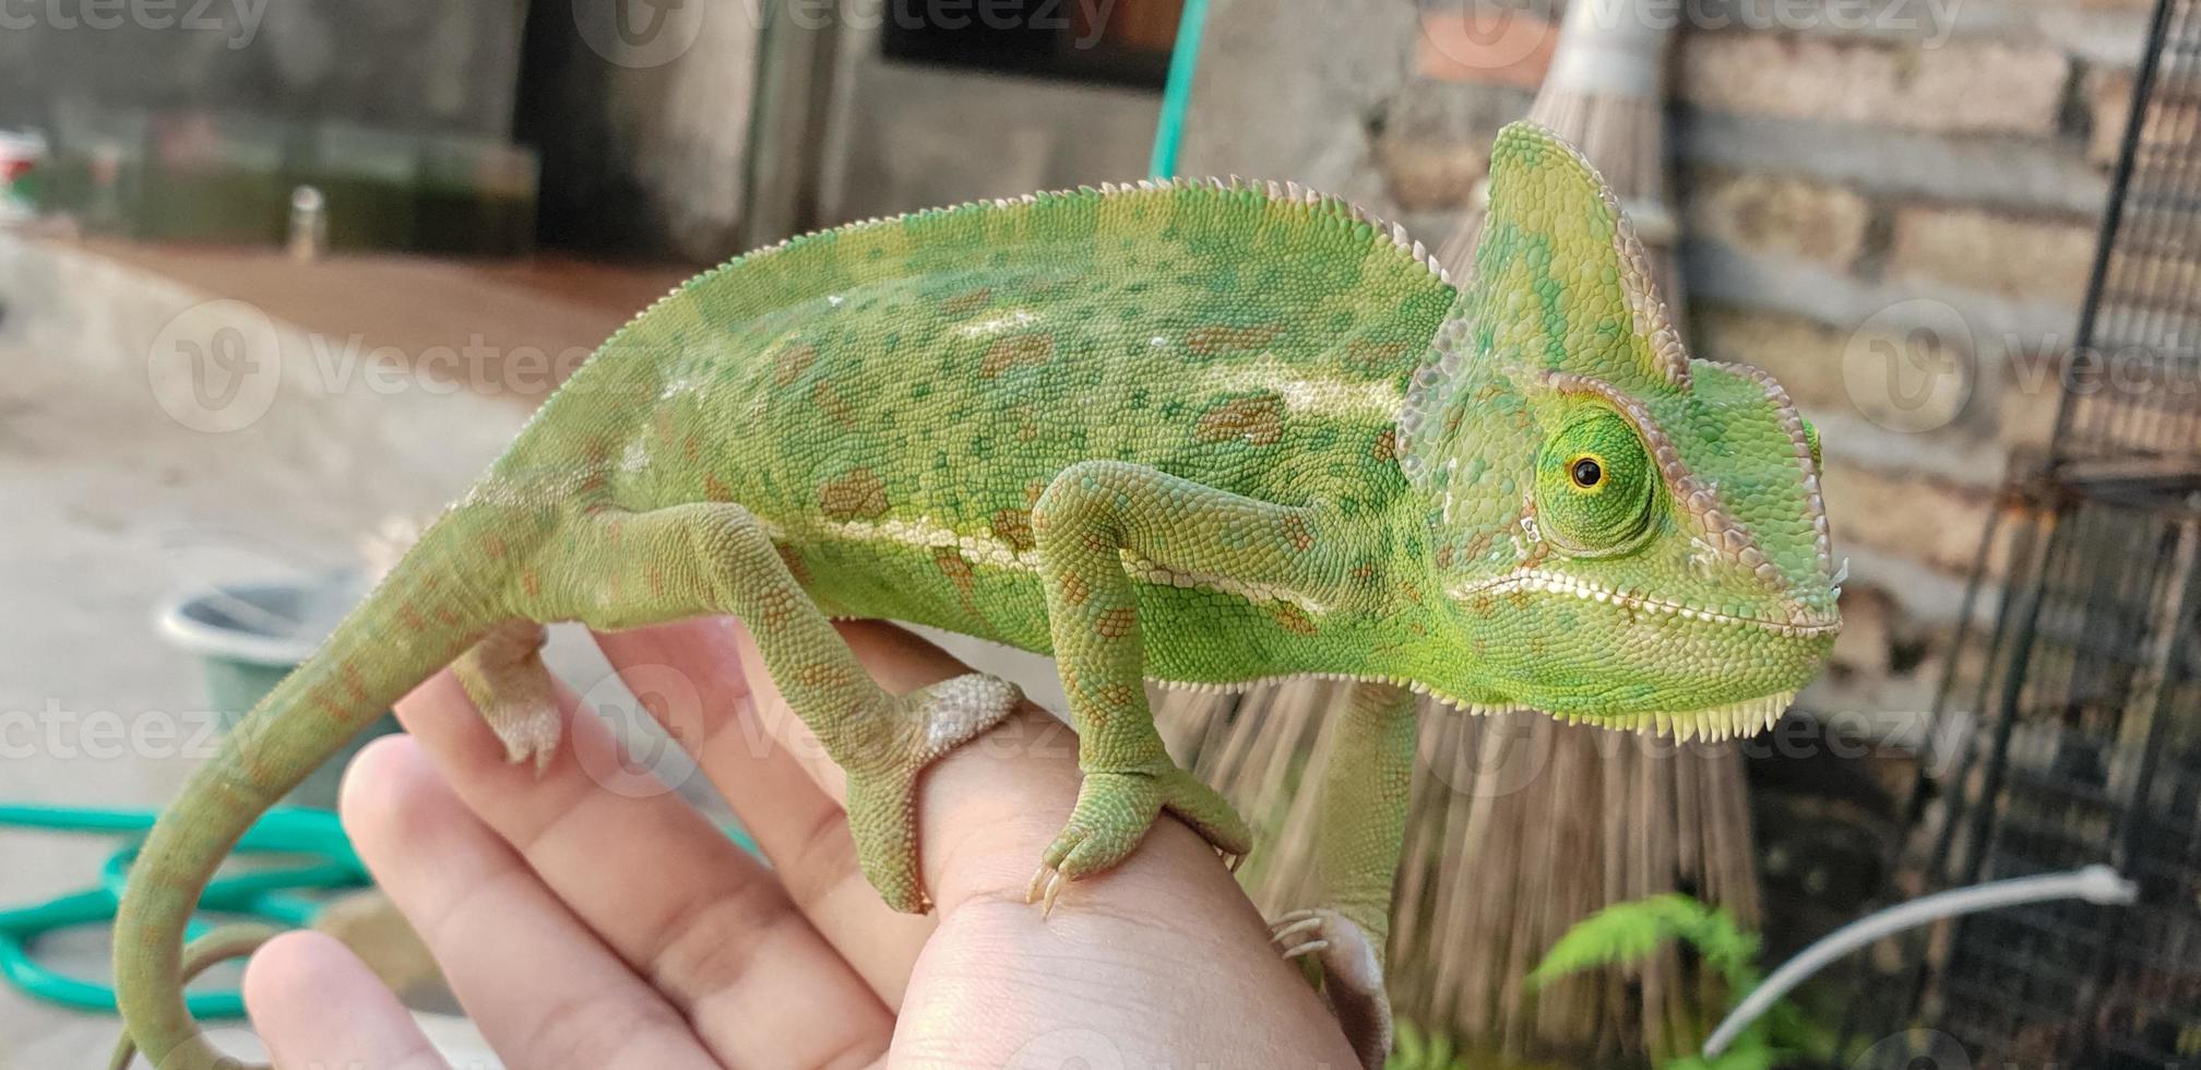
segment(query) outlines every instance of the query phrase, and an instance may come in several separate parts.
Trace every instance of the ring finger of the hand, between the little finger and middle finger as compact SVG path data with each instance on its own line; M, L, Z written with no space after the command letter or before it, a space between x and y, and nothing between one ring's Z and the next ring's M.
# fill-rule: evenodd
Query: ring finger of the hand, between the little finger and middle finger
M352 760L343 826L482 1037L513 1066L715 1066L689 1024L467 810L420 746Z

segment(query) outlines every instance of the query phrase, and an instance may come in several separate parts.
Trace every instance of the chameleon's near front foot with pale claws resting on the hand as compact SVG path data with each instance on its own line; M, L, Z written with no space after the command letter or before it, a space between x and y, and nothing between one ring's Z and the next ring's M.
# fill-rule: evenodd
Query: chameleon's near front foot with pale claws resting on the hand
M1252 830L1222 793L1178 766L1162 773L1087 773L1078 786L1078 806L1041 854L1023 900L1041 903L1045 916L1070 881L1114 870L1125 861L1147 839L1147 830L1164 808L1193 826L1226 865L1235 867L1252 850Z

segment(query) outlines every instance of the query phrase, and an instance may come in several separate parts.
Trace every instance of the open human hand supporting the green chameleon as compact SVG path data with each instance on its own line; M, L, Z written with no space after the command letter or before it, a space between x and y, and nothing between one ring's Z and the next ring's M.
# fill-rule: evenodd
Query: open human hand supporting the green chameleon
M896 694L966 672L891 625L843 632ZM1076 738L1045 713L1026 709L924 775L938 909L920 918L856 872L841 773L740 625L599 643L636 691L693 691L651 713L770 865L621 771L570 691L541 777L504 762L440 674L398 702L409 735L376 740L343 786L354 845L506 1066L1358 1066L1215 852L1173 819L1052 916L1026 905L1078 784ZM262 947L244 997L280 1068L442 1066L328 936Z

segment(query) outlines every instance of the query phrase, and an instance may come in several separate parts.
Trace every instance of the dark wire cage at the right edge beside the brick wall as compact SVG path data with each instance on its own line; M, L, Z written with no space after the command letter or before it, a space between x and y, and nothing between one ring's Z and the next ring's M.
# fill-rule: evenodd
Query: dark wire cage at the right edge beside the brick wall
M2109 863L2139 903L1913 940L1849 1066L2201 1066L2197 332L2201 0L2159 0L2056 432L1981 544L1913 806L1924 889Z

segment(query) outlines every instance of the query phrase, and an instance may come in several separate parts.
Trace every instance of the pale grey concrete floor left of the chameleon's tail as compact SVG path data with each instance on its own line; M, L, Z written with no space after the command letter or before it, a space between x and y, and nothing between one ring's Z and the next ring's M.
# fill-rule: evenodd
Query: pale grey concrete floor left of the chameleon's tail
M313 451L275 440L315 421L198 434L165 418L143 376L97 374L99 361L0 343L0 368L4 801L165 801L205 757L213 713L191 658L156 638L154 603L205 581L354 564L359 533L434 509L482 460L453 454L449 471L372 487L326 482ZM493 414L519 418L508 405ZM86 887L108 850L101 839L0 830L0 903ZM101 931L48 949L70 971L106 973ZM0 1066L90 1066L112 1035L106 1015L0 986Z

